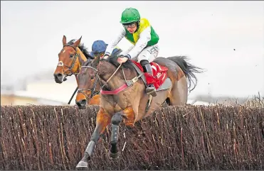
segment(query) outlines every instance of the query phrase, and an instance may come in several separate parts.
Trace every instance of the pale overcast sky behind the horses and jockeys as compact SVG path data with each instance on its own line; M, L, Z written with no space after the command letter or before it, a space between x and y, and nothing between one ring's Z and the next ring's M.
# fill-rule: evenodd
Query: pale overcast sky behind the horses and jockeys
M207 70L191 94L264 95L263 1L1 1L1 82L55 70L63 35L82 35L89 50L109 42L130 6L159 35L159 56Z

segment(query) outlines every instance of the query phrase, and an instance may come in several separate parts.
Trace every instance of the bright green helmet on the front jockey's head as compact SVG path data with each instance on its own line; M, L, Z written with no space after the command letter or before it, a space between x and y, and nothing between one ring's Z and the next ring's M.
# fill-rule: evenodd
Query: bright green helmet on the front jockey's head
M122 12L120 23L133 23L140 20L139 11L137 9L129 8Z

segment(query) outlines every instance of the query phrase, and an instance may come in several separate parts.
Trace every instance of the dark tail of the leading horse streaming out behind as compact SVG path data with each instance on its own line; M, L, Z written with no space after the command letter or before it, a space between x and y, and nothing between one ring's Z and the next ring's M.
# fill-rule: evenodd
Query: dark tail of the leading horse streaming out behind
M181 70L184 72L185 77L189 81L188 88L190 89L191 83L194 84L194 88L197 85L197 78L194 75L194 73L203 73L204 70L201 67L196 67L194 65L191 65L191 63L187 62L188 57L186 56L173 56L173 57L167 57L167 59L172 60L173 62L176 62L177 65L181 68ZM194 89L192 88L190 92Z

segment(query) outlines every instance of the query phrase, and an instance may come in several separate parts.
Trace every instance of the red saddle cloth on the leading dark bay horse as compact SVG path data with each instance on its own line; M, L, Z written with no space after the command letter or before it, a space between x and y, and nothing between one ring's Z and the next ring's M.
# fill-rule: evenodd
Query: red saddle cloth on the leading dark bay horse
M140 65L139 62L136 62L134 60L131 60L137 67L139 67L139 70L143 72L143 68ZM149 62L149 64L152 66L152 75L149 75L149 73L145 72L144 76L146 77L147 84L154 84L154 87L156 89L159 89L159 87L164 83L165 79L167 79L167 67L164 67L162 65L158 65L155 62Z

